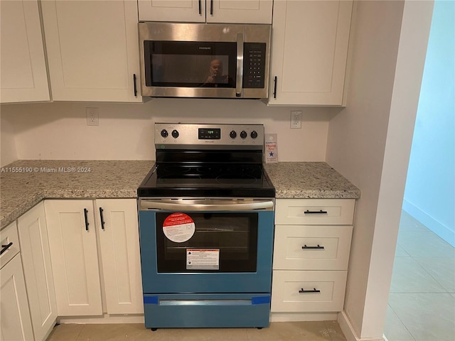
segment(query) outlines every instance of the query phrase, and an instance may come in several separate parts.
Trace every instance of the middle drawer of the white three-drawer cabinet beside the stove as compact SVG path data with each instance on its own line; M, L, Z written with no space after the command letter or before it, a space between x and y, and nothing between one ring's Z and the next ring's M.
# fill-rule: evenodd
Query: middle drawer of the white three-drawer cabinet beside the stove
M347 270L352 226L275 227L273 267L278 270Z

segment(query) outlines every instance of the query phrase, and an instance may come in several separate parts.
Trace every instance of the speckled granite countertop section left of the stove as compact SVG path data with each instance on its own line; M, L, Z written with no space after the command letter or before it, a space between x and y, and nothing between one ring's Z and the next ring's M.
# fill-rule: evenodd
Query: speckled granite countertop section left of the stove
M137 197L153 165L154 161L15 161L1 168L0 227L43 199Z

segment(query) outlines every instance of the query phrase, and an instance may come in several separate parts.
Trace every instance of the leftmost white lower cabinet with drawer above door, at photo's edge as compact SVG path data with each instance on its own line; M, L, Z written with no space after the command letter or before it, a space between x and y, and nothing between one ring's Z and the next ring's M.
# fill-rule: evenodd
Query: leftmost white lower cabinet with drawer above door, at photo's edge
M33 340L16 222L0 232L0 340ZM10 244L11 243L11 244Z

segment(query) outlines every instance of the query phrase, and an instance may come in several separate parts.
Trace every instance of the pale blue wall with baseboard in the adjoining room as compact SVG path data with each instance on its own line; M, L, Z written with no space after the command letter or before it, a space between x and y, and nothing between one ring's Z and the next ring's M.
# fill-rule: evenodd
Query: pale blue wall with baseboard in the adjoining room
M403 208L455 247L455 2L435 1Z

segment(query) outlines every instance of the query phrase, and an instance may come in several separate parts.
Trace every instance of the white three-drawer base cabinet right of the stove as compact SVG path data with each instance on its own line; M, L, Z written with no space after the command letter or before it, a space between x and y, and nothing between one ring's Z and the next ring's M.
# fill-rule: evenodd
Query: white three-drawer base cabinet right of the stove
M343 310L354 199L277 199L272 313Z

